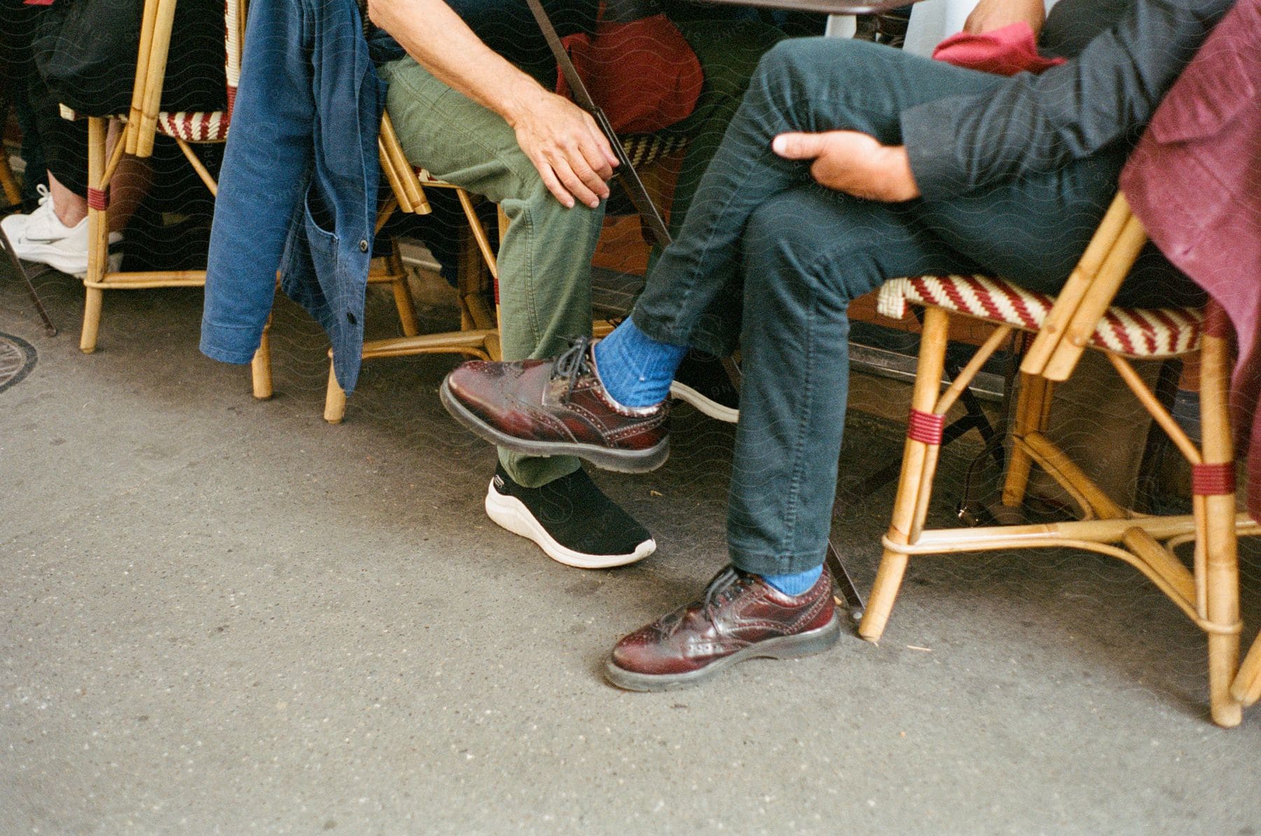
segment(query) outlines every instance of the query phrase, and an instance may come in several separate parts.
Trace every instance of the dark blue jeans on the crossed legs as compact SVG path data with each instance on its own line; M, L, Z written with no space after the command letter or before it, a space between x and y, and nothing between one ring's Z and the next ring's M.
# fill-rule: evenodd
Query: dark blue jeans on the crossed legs
M1125 149L950 200L831 192L770 151L783 131L852 129L902 142L913 105L1002 79L865 42L798 39L763 58L676 242L633 318L651 337L726 354L744 387L731 474L731 561L823 561L849 382L850 300L885 279L997 272L1057 291L1116 189ZM743 304L741 304L743 301Z

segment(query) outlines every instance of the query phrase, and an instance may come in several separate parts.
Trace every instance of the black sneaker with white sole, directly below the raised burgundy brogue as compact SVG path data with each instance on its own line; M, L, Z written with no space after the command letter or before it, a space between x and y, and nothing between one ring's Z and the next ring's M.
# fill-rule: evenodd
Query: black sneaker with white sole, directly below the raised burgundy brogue
M648 530L604 496L581 469L541 488L523 488L499 464L485 493L485 513L566 566L624 566L657 549Z

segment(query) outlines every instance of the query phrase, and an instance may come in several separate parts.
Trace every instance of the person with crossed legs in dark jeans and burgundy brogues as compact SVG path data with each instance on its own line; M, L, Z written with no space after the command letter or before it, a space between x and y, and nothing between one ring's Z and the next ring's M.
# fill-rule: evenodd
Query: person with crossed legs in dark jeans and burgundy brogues
M739 337L731 565L697 601L624 637L605 666L612 683L676 688L836 642L822 564L850 300L924 272L995 272L1055 293L1161 95L1231 5L1062 0L1042 26L1042 0L982 0L979 29L1023 19L1042 29L1043 52L1069 58L1040 76L864 42L784 42L763 58L628 320L555 359L465 363L444 381L451 414L504 448L642 472L668 454L680 358L689 347L726 354ZM1131 275L1120 304L1175 304L1171 275Z

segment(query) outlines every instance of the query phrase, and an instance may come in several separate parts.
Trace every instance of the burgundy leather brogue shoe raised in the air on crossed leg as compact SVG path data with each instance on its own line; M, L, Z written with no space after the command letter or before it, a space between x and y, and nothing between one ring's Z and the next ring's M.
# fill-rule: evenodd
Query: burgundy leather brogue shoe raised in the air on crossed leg
M585 337L550 361L464 363L443 381L441 398L456 421L517 453L576 455L623 473L654 470L670 455L667 405L610 398Z

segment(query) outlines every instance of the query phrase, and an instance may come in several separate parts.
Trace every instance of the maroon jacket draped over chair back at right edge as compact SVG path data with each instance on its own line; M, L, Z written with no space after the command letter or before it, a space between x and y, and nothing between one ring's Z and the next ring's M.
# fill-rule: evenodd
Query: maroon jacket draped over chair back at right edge
M1169 90L1121 173L1161 252L1229 315L1231 416L1261 521L1261 0L1238 0Z

